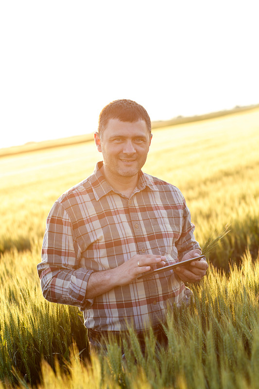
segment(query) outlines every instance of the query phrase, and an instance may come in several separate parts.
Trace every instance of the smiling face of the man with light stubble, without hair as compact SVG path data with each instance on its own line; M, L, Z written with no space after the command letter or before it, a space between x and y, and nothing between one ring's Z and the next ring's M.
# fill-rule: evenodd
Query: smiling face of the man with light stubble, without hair
M144 165L151 138L143 120L135 123L110 119L102 134L95 134L98 151L103 153L104 172L107 177L120 179L133 177Z

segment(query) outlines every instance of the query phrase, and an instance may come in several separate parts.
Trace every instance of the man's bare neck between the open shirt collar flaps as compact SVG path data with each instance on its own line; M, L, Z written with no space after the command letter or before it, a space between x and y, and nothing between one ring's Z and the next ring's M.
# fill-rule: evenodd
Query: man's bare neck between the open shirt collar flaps
M125 195L127 197L130 197L130 195L134 192L137 183L138 183L138 174L136 174L133 177L123 177L121 176L121 179L118 180L118 177L113 177L110 174L107 174L105 172L105 166L103 165L101 168L101 172L103 173L106 181L110 184L110 186L116 190L117 192L120 192L122 195Z

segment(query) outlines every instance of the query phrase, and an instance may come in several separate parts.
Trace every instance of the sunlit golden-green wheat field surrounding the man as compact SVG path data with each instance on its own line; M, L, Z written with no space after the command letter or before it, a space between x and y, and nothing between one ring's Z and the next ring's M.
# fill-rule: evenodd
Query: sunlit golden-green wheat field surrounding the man
M81 313L41 295L36 264L47 214L102 159L94 142L0 158L0 388L259 388L259 109L163 127L143 170L180 188L201 246L230 232L191 285L190 308L168 312L169 347L146 354L130 330L88 358Z

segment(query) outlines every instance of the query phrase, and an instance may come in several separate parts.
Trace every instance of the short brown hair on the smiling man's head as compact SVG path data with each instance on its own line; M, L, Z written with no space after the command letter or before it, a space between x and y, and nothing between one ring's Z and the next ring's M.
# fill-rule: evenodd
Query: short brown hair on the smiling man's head
M119 119L121 122L138 122L144 120L151 137L151 120L143 106L133 100L115 100L105 106L99 115L98 133L101 139L105 126L110 119Z

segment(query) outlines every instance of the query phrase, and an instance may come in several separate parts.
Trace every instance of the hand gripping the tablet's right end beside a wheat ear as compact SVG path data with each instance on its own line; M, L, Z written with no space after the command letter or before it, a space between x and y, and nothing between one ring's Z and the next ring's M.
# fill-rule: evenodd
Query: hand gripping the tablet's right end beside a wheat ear
M198 257L199 255L201 255L201 251L196 248L185 254L181 262ZM193 261L189 265L178 266L173 271L183 282L195 283L205 276L207 268L208 264L206 260L201 259L200 261Z

